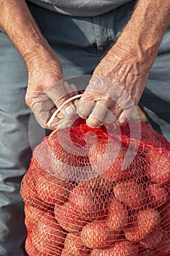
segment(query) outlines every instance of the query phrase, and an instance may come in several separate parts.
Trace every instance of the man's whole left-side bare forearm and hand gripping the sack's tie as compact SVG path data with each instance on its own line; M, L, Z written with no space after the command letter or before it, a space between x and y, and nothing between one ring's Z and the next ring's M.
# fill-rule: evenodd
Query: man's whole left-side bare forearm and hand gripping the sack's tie
M20 52L28 67L26 104L42 127L66 99L76 94L75 86L62 82L61 64L36 24L25 0L0 0L0 26ZM65 116L76 111L69 102L62 109ZM56 117L53 122L58 122ZM47 127L49 128L49 127Z

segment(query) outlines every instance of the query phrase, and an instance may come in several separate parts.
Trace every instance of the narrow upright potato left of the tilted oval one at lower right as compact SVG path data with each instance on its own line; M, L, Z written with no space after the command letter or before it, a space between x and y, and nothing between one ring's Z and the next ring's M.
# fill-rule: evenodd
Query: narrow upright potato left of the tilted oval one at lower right
M112 230L122 230L128 225L128 211L116 198L108 203L105 222Z

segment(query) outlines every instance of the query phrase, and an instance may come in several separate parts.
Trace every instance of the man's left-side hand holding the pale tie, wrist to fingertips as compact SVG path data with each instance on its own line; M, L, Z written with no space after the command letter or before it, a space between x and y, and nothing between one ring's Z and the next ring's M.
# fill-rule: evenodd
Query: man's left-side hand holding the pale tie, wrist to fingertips
M76 87L63 81L61 64L58 58L50 51L45 53L34 50L34 57L27 56L28 89L26 104L33 111L37 121L44 128L55 129L56 123L64 116L72 116L76 112L74 104L68 103L56 116L53 124L47 127L47 121L55 110L68 99L77 94Z

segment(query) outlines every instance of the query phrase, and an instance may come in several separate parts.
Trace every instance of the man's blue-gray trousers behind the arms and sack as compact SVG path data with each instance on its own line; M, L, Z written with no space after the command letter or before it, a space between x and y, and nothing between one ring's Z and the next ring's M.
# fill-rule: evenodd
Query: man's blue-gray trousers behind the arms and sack
M63 77L69 78L93 73L131 17L135 2L93 18L71 17L28 5L61 61ZM140 106L150 124L170 140L169 42L170 29L163 37L158 58L150 70ZM27 80L26 64L0 29L0 256L26 255L20 181L28 169L32 148L45 136L45 130L39 127L26 106ZM85 89L85 85L78 85L78 89ZM29 131L31 122L36 138L34 129Z

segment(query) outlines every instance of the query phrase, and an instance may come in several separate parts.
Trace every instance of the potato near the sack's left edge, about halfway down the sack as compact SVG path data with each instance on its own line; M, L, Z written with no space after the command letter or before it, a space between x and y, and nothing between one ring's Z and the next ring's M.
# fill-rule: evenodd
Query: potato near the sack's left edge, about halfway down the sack
M39 176L36 181L37 195L50 204L61 204L69 197L69 183L59 178L48 181L45 177Z

